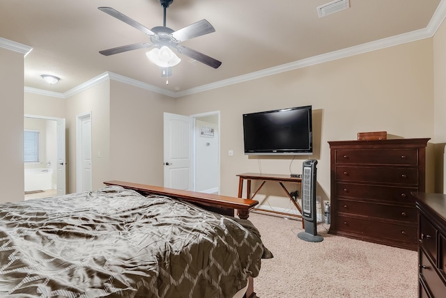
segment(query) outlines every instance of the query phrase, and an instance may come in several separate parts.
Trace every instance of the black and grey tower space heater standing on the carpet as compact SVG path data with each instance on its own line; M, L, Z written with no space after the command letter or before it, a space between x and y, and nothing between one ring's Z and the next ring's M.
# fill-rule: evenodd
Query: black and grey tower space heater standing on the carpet
M302 164L302 220L305 231L298 233L298 237L308 242L321 242L318 236L316 218L316 159L308 159Z

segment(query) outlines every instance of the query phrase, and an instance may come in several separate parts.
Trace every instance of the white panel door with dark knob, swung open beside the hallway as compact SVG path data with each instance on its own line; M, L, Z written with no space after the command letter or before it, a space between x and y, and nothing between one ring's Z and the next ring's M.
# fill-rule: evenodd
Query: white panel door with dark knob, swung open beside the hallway
M164 187L192 190L192 118L164 113Z

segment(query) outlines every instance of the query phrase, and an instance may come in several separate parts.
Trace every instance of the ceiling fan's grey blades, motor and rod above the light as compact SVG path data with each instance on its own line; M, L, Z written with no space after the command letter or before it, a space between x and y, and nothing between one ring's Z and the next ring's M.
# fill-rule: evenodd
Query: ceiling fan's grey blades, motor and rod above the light
M218 68L222 64L222 62L201 52L197 52L194 49L190 49L189 47L180 45L180 42L183 42L185 40L190 40L198 36L203 36L205 34L215 32L214 27L208 21L206 21L206 19L201 19L201 21L190 24L189 26L185 26L183 29L179 29L177 31L170 29L166 26L166 10L172 2L174 2L174 0L160 0L161 6L164 8L164 23L163 26L155 26L152 29L146 28L145 26L134 21L134 19L130 19L130 17L118 12L118 10L115 10L114 8L99 7L99 10L111 15L112 17L116 17L116 19L129 24L139 31L146 33L150 38L150 42L139 42L132 45L123 45L121 47L105 49L103 51L100 51L100 54L110 56L145 47L156 46L160 49L162 47L168 47L169 49L176 49L178 53L189 56L190 58L209 65L212 68Z

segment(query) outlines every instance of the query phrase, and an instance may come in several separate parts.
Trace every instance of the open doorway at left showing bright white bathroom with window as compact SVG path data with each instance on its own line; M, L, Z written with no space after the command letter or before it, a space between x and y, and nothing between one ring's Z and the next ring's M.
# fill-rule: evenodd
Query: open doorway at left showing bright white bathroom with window
M25 199L66 194L65 119L24 116Z

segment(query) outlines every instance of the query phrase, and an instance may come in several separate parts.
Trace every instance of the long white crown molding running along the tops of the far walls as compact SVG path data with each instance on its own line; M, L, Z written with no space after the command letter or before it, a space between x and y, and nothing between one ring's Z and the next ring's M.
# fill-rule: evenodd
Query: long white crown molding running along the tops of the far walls
M425 29L420 29L416 31L411 31L408 33L403 33L398 36L392 36L389 38L383 38L381 40L375 40L373 42L367 42L362 45L357 45L354 47L348 47L346 49L339 49L334 52L321 54L318 56L313 56L305 59L301 59L298 61L293 61L291 63L286 63L282 65L277 65L273 68L267 68L265 70L259 70L257 72L250 72L246 75L240 75L238 77L232 77L230 79L224 79L222 81L216 81L214 83L190 88L184 91L168 91L167 89L160 88L157 86L153 86L151 84L144 83L142 81L138 81L136 79L131 79L129 77L124 77L123 75L118 75L113 72L104 72L102 75L99 75L98 77L94 77L93 79L90 79L89 81L84 82L83 84L80 84L79 86L72 88L70 91L67 91L66 93L63 93L62 97L67 98L72 95L75 95L81 91L86 90L87 88L90 88L92 86L95 86L96 84L101 83L102 81L106 81L107 79L113 79L114 81L120 81L124 84L129 84L132 86L136 86L138 88L143 88L148 91L153 91L155 93L160 93L163 95L167 95L169 97L183 97L185 95L192 95L194 93L201 93L203 91L210 91L217 88L222 88L224 86L230 86L233 84L239 84L243 83L245 81L251 81L254 79L260 79L261 77L268 77L271 75L277 75L281 72L288 72L290 70L297 70L299 68L305 68L310 65L316 65L325 63L328 61L334 61L341 58L346 58L349 56L355 56L358 54L364 54L367 52L376 51L378 49L385 49L387 47L394 47L396 45L402 45L407 42L414 42L417 40L422 40L425 38L431 38L434 36L440 25L443 23L444 19L446 17L446 0L441 0L438 4L438 7L433 14L433 17L431 18L431 21L429 22L428 26L426 26ZM2 46L2 40L4 38L0 38L0 47ZM17 47L17 42L13 42L15 46ZM21 45L22 47L27 47L24 45ZM20 48L20 47L19 47ZM29 48L29 51L31 51L32 48ZM24 49L22 49L24 51ZM45 91L40 91L39 89L35 88L27 88L25 87L26 92L30 93L37 93L37 94L45 94L49 95L50 93L45 93ZM56 93L56 97L60 97L61 93ZM49 95L52 96L52 95Z

